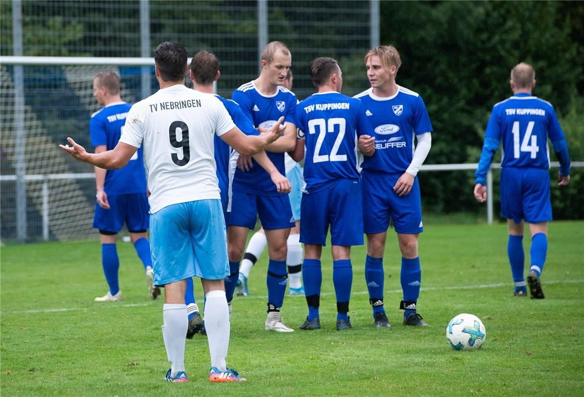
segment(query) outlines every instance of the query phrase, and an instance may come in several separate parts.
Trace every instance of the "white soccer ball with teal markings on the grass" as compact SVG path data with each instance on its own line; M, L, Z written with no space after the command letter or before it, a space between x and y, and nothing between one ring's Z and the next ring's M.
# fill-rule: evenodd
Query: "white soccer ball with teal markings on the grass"
M454 350L478 349L486 339L485 326L475 315L459 314L448 323L446 339Z

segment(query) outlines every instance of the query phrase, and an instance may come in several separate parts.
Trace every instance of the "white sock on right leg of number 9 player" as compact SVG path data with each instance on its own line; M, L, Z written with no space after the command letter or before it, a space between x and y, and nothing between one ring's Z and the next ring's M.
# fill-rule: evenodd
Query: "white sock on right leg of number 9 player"
M207 298L204 308L205 329L211 353L211 367L227 371L225 360L229 348L230 322L225 291L209 291L205 298Z

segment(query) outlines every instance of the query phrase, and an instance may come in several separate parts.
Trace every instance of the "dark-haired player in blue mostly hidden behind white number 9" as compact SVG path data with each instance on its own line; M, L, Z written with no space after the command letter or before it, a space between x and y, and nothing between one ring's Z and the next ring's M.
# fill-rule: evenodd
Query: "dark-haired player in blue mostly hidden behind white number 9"
M191 62L190 62L190 79L193 82L193 88L197 91L208 93L214 95L213 93L213 82L219 79L221 75L219 71L219 60L215 54L210 51L201 50L197 52ZM239 109L239 105L231 99L224 99L219 95L215 95L217 99L223 103L227 113L231 116L235 125L246 135L259 135L259 131L253 128L253 124L248 117ZM221 207L223 207L223 216L225 218L225 227L227 227L227 221L229 220L230 212L228 212L229 204L229 186L230 186L230 156L233 149L225 143L221 138L215 135L214 137L214 150L215 150L215 164L217 169L217 179L219 181L219 189L221 190ZM285 176L276 169L273 163L267 158L266 152L262 151L259 154L253 156L254 159L266 169L269 173L272 182L276 184L277 188L281 191L289 191L290 183ZM235 284L237 283L239 276L239 269L231 268L230 275L225 277L225 295L227 297L227 304L229 305L229 311L231 314L231 301L233 299L233 294L235 291ZM198 307L194 300L193 293L193 279L187 279L187 288L185 294L185 302L187 304L187 314L189 315L189 330L187 332L187 338L192 338L194 333L198 332L201 328L202 321L198 313Z

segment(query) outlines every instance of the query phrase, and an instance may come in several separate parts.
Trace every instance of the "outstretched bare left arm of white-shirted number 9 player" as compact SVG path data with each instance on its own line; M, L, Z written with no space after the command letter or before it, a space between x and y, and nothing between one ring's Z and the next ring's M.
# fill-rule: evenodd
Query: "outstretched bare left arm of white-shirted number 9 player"
M130 158L138 150L132 145L118 142L116 147L102 153L88 153L84 147L79 145L73 138L67 138L69 145L59 145L61 149L68 152L79 161L95 165L103 169L120 169L130 161Z

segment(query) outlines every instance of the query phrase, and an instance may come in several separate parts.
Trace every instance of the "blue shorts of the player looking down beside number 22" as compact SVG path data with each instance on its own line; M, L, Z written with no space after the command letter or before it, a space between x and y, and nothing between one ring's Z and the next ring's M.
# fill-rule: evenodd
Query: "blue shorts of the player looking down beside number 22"
M287 194L262 196L234 190L231 198L229 224L255 228L257 215L265 230L294 227L294 218Z

